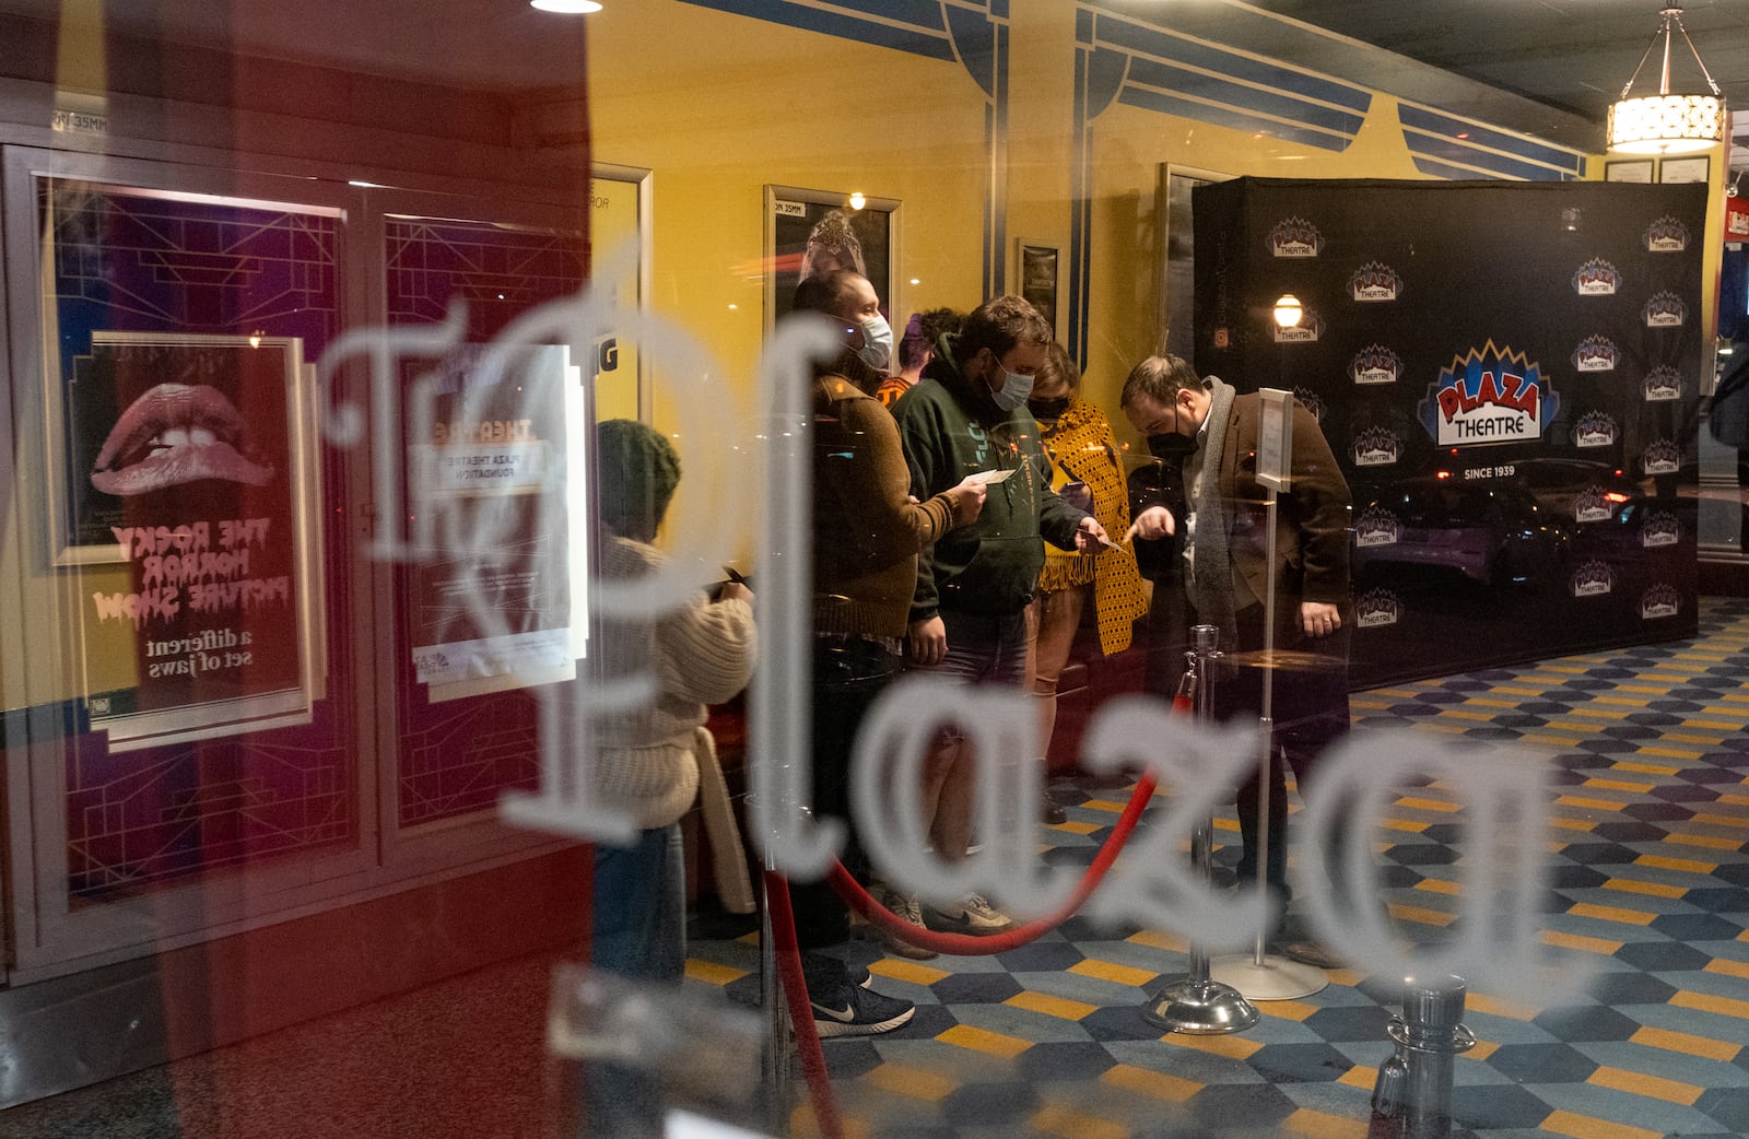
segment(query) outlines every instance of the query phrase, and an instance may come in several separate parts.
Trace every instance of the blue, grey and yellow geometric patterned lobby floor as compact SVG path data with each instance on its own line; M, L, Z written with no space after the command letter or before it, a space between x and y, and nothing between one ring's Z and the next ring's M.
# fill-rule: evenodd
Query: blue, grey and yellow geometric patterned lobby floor
M1546 940L1604 971L1572 1006L1473 990L1478 1046L1457 1059L1457 1139L1725 1139L1749 1134L1749 600L1704 598L1695 640L1357 693L1357 730L1511 740L1553 765ZM1060 786L1058 796L1077 798ZM1046 828L1084 863L1121 791L1081 793ZM1438 784L1392 808L1380 850L1397 931L1455 913L1462 812ZM1237 824L1217 819L1217 861ZM1139 1011L1188 969L1151 931L1074 920L1020 950L927 962L852 955L916 1003L904 1029L826 1045L847 1132L876 1137L1310 1136L1362 1139L1399 994L1331 971L1256 1027L1161 1034ZM689 983L757 999L757 945L694 941ZM796 1134L810 1134L808 1108Z

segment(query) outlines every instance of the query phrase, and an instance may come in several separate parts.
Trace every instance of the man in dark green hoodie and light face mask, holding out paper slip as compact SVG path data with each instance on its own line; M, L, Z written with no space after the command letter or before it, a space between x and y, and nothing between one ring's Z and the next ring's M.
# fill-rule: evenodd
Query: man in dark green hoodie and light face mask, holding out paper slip
M967 476L988 479L978 521L943 534L918 556L906 639L913 668L965 684L1021 686L1027 604L1044 565L1041 537L1060 549L1097 549L1105 541L1091 514L1051 490L1051 464L1027 409L1032 374L1051 339L1051 325L1027 301L986 301L958 332L941 338L923 380L892 408L915 499L929 500ZM936 854L960 861L972 828L965 740L943 735L925 772ZM962 933L1013 926L976 894L930 906L927 917Z

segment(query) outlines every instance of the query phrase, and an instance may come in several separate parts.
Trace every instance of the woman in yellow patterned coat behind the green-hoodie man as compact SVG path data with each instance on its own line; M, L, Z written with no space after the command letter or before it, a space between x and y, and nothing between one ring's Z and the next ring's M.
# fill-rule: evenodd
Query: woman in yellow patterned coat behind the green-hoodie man
M1081 369L1062 345L1053 343L1032 380L1027 406L1039 422L1039 441L1051 460L1053 490L1091 511L1105 534L1116 537L1130 528L1123 458L1105 413L1081 399L1079 388ZM1098 553L1083 555L1048 544L1039 597L1028 611L1028 688L1039 698L1039 738L1046 754L1056 724L1056 681L1069 663L1090 602L1098 614L1100 653L1111 656L1128 649L1130 626L1147 612L1135 551L1102 546Z

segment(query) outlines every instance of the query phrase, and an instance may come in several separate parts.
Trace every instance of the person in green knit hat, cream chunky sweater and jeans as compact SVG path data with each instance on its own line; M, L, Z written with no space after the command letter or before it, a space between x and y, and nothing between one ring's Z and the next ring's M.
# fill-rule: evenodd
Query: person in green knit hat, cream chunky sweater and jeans
M665 555L651 542L680 483L673 446L645 423L609 420L596 429L602 576L640 577ZM754 670L754 595L726 583L677 609L603 619L600 668L609 679L651 677L656 693L637 709L603 716L589 770L605 805L637 819L630 847L595 850L591 962L644 980L679 982L686 968L686 878L680 817L701 798L724 906L752 912L752 887L729 812L707 705L747 686Z

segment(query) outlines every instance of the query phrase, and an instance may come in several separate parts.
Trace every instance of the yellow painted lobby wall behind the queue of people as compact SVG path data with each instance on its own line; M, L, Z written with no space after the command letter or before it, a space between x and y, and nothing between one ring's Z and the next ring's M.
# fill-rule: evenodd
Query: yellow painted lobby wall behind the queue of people
M1065 0L1013 0L1006 166L999 185L1006 226L995 234L1016 289L1014 241L1042 241L1060 254L1060 327L1070 303L1070 236L1076 170L1076 19ZM894 324L922 308L971 308L983 299L985 224L990 191L990 103L958 61L929 59L679 0L616 3L588 24L589 121L598 163L652 171L651 308L689 329L721 367L724 411L745 411L752 369L766 336L763 257L768 184L862 191L901 203L895 231ZM1417 178L1397 124L1397 101L1375 94L1366 124L1341 152L1112 103L1091 131L1091 231L1088 255L1086 394L1109 413L1132 364L1158 350L1163 329L1160 264L1163 234L1156 194L1161 166L1244 177ZM1714 203L1723 154L1714 154ZM1600 156L1590 175L1599 177ZM1719 210L1707 222L1716 250ZM598 250L603 252L603 250ZM1705 320L1712 327L1716 254L1705 273ZM915 285L911 282L916 282ZM652 422L677 423L675 406L652 373ZM623 413L623 411L616 411ZM1116 416L1119 434L1126 434ZM694 479L686 495L721 495ZM14 502L16 530L33 506ZM5 562L26 569L31 588L0 583L0 619L23 628L26 612L54 604L31 556L5 537ZM65 576L61 576L65 577ZM65 598L63 598L65 604ZM0 670L30 677L31 691L0 693L0 705L44 703L80 691L56 649Z

